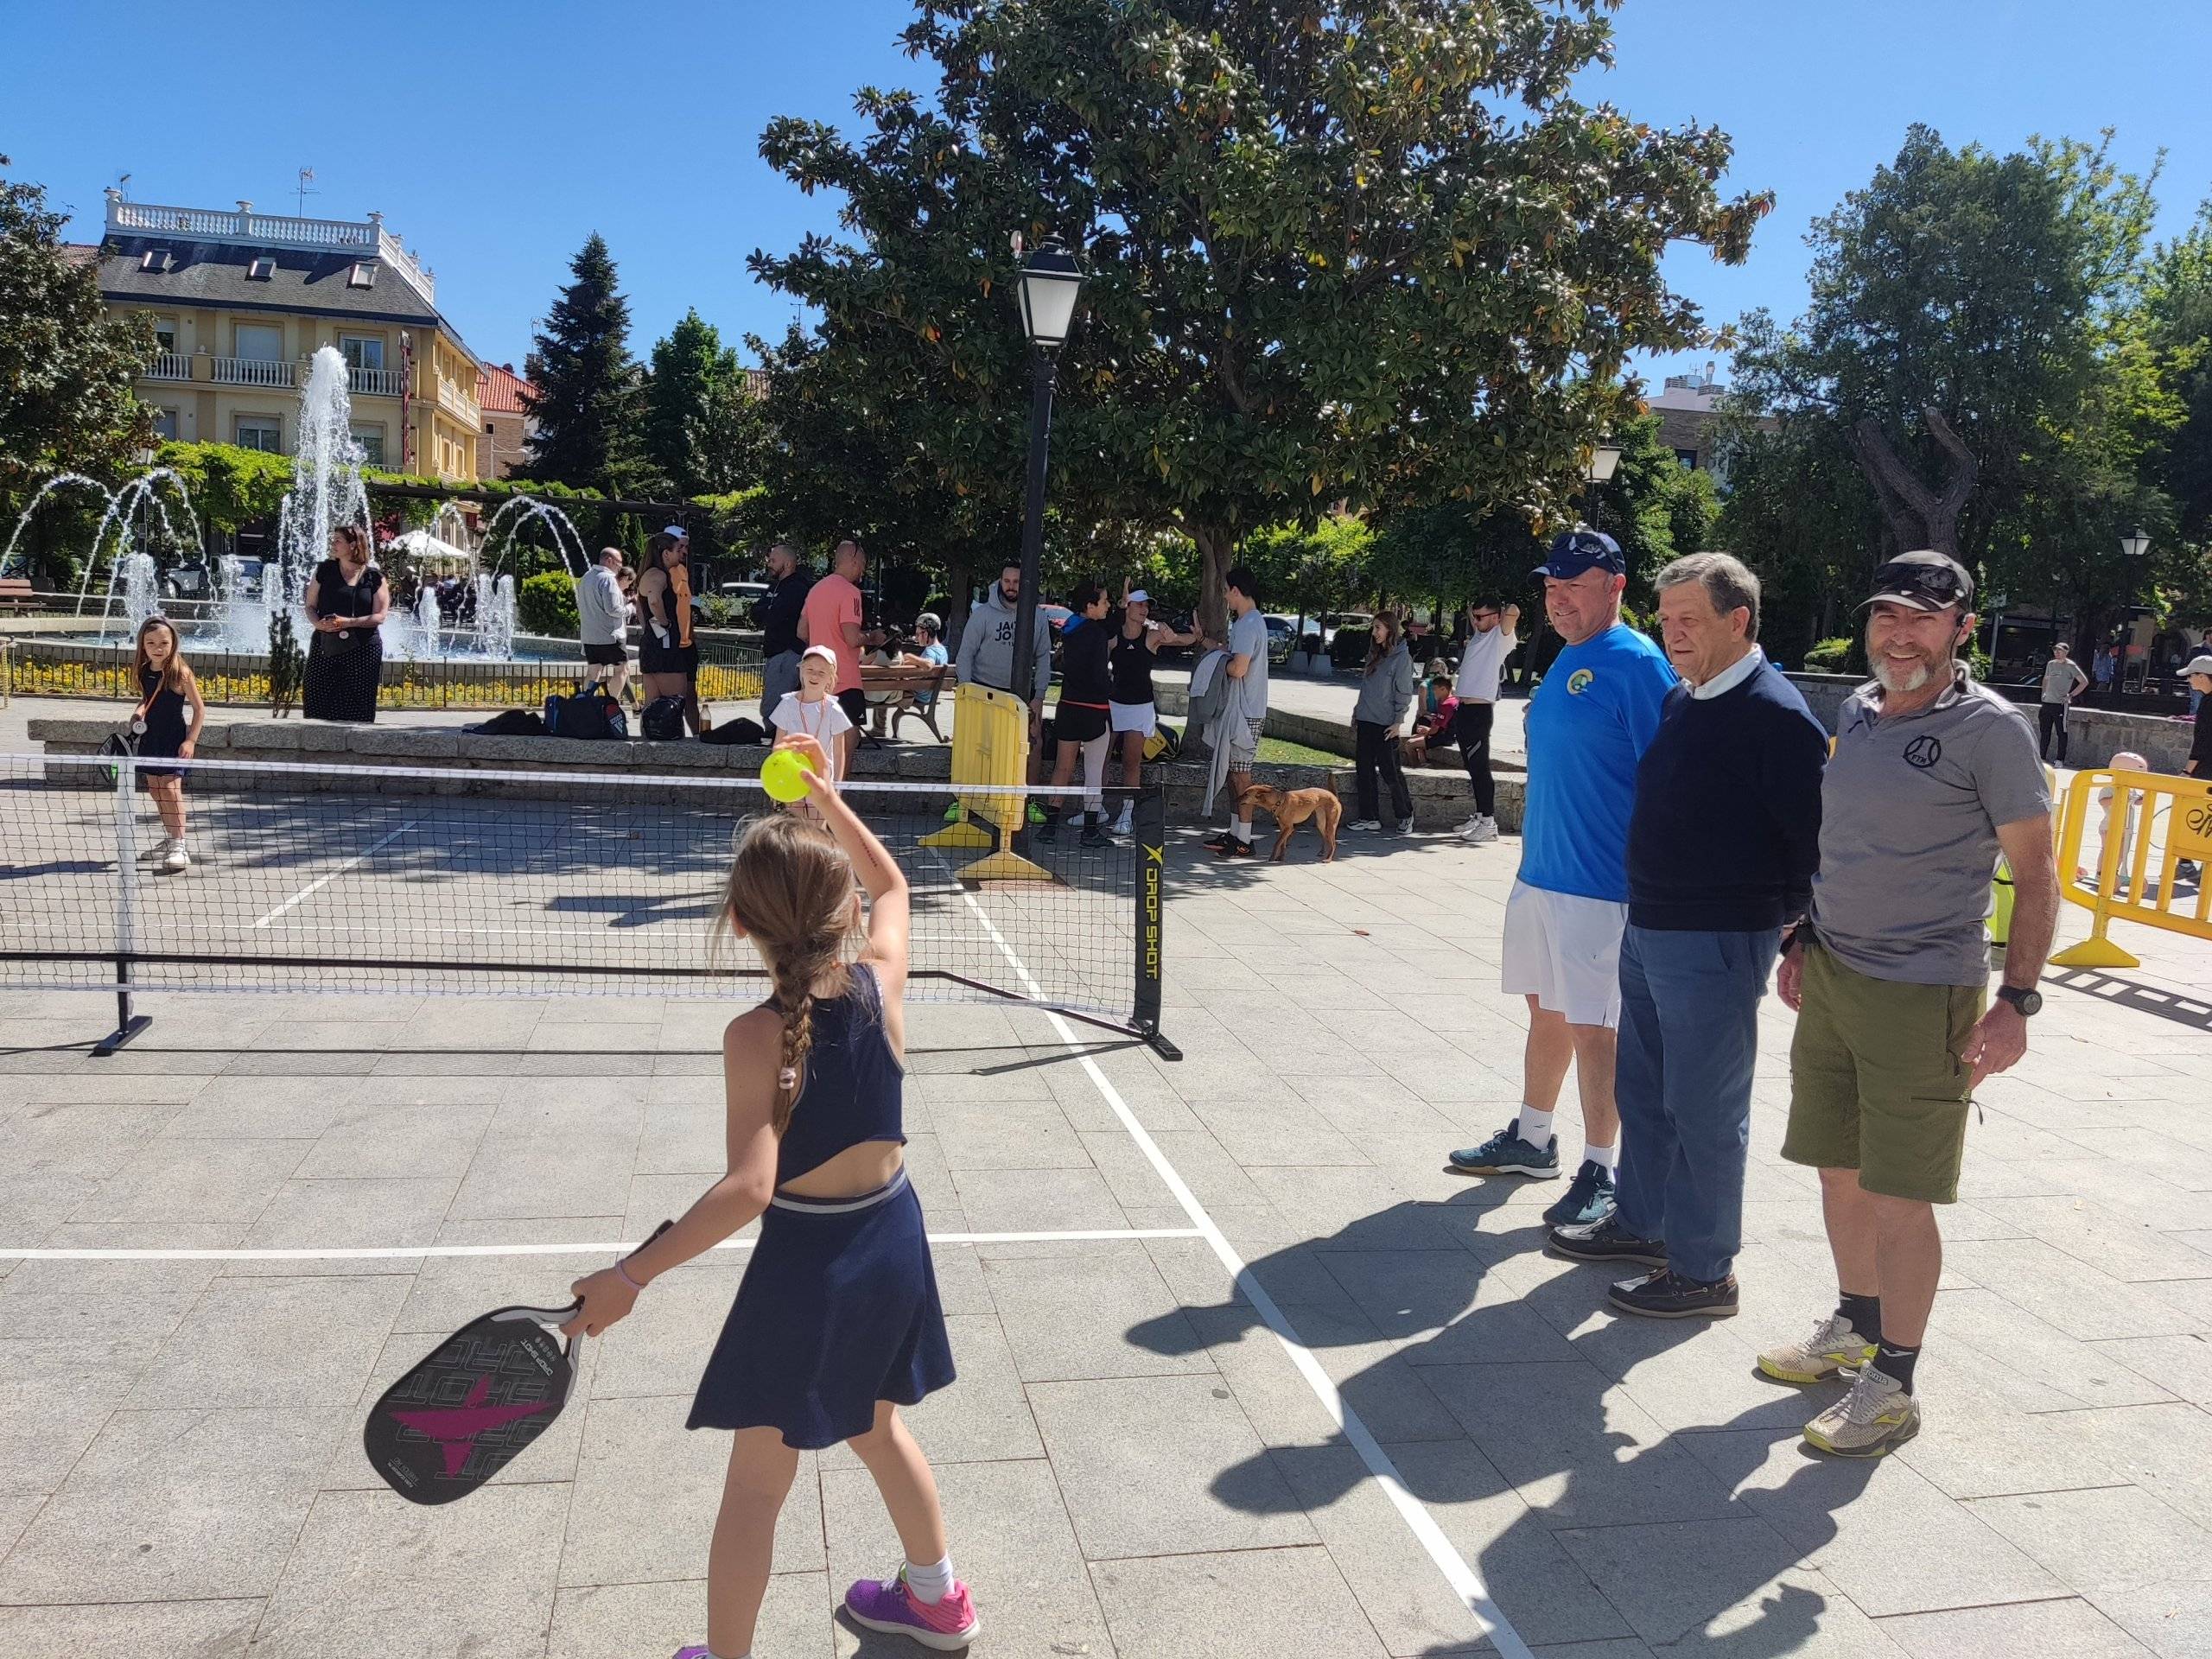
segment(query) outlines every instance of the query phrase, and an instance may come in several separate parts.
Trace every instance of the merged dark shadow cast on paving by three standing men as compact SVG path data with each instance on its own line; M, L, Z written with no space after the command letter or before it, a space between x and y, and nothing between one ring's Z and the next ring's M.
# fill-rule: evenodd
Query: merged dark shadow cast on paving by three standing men
M1449 1203L1402 1201L1261 1256L1248 1279L1336 1378L1524 1641L1635 1635L1652 1652L1714 1659L1801 1652L1829 1599L1781 1575L1834 1540L1834 1511L1874 1475L1871 1462L1820 1460L1798 1440L1834 1387L1776 1385L1772 1402L1734 1418L1661 1429L1619 1383L1699 1340L1705 1323L1604 1312L1608 1283L1637 1267L1557 1263L1537 1279L1535 1206L1528 1225L1475 1230L1506 1197L1482 1186ZM1141 1321L1128 1338L1155 1354L1212 1349L1234 1380L1243 1367L1228 1349L1270 1343L1245 1283L1212 1307ZM1340 1358L1385 1345L1358 1369ZM1712 1356L1739 1367L1743 1349L1714 1343ZM1670 1369L1679 1380L1681 1367ZM1323 1511L1369 1480L1343 1433L1261 1433L1276 1444L1212 1480L1232 1509ZM1776 1447L1803 1467L1739 1498Z

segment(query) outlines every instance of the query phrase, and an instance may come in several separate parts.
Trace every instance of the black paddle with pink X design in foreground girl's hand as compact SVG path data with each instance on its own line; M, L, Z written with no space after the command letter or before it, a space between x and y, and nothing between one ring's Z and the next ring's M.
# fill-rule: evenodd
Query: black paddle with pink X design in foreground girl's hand
M577 1307L495 1307L438 1343L369 1407L369 1467L414 1504L451 1504L500 1473L568 1405L575 1343L560 1327Z

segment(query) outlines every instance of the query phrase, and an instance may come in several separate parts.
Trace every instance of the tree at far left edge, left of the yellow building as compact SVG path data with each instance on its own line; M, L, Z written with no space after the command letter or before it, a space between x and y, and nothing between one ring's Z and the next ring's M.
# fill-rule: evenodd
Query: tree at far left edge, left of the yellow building
M62 248L64 221L44 186L0 177L0 502L58 471L115 478L153 445L133 389L153 321L108 316L100 268Z

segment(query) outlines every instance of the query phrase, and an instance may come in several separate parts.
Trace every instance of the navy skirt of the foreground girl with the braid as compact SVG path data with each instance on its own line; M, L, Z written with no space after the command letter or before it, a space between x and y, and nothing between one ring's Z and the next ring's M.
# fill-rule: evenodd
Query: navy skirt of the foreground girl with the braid
M801 1451L953 1380L922 1203L900 1170L858 1199L776 1197L686 1429L781 1429Z

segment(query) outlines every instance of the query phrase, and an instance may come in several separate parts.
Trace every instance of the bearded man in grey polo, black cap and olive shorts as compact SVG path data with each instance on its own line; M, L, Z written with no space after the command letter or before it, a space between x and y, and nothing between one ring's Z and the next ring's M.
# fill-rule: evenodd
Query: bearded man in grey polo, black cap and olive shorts
M1913 1363L1942 1276L1936 1206L1958 1199L1966 1104L2028 1048L2057 925L2051 792L2026 717L1978 686L1973 577L1942 553L1885 564L1867 602L1874 681L1836 714L1812 916L1783 951L1798 1009L1783 1157L1820 1170L1843 1298L1759 1369L1860 1367L1805 1440L1878 1458L1920 1431ZM1989 1000L1991 874L2013 867L2004 984Z

